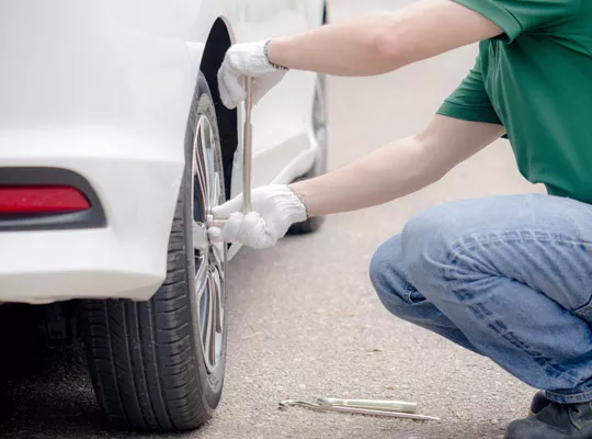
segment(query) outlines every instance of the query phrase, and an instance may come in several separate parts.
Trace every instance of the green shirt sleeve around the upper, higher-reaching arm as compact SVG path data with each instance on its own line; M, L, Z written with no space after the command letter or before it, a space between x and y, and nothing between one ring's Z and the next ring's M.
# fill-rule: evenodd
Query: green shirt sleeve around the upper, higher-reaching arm
M590 0L453 0L491 20L510 42L522 32L546 29L565 22Z

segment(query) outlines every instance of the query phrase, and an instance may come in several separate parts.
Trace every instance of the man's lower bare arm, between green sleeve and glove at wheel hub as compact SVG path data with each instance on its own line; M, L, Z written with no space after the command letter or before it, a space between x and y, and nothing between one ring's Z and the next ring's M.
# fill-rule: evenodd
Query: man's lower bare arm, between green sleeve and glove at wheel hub
M383 204L437 181L504 132L501 125L436 115L420 134L292 188L310 216Z

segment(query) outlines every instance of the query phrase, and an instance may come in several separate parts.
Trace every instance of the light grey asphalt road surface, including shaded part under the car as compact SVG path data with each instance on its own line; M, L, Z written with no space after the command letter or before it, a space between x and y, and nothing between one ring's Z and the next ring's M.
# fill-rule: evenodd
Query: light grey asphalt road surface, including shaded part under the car
M333 0L331 15L409 2ZM330 166L420 130L475 53L464 48L376 78L330 78ZM314 236L241 251L231 262L224 401L207 426L174 437L501 438L511 419L526 414L533 390L491 361L390 316L367 267L374 249L428 206L533 191L540 188L520 177L509 144L500 140L420 193L330 217ZM9 327L5 318L2 326ZM11 347L5 329L2 338L0 437L128 437L106 429L78 351ZM281 399L317 396L417 401L422 413L442 420L277 409Z

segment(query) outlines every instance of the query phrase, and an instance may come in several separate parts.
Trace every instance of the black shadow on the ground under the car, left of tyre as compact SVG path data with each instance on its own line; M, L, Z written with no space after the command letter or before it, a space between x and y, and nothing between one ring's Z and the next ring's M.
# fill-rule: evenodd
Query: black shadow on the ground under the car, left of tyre
M82 347L45 346L42 307L0 306L0 437L80 438L105 424Z

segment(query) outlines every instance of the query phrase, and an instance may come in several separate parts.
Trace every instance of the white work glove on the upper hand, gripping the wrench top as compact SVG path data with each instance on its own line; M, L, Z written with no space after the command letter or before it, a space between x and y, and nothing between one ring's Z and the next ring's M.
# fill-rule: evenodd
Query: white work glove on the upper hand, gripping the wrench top
M218 70L220 99L228 109L244 101L244 77L254 78L253 103L258 103L277 82L286 69L270 63L266 54L267 41L242 43L231 46Z

